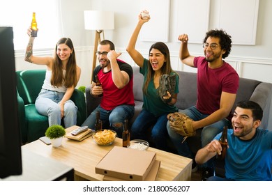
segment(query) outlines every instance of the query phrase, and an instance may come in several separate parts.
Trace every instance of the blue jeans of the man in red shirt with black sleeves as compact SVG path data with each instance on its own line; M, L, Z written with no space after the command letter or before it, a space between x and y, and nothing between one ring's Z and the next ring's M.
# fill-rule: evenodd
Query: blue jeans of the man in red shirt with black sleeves
M100 111L100 119L102 120L103 129L110 128L116 131L118 137L122 137L123 127L112 127L114 123L125 123L126 119L130 119L134 114L134 106L131 105L120 105L114 109L108 111L100 107L100 104L96 109L94 109L90 116L86 118L82 126L88 126L94 130L94 125L96 124L96 112Z

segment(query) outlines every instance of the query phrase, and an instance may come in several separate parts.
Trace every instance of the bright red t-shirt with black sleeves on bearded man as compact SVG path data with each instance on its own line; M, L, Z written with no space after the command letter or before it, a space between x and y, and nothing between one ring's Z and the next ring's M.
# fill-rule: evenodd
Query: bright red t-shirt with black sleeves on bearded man
M98 79L103 88L103 98L100 102L100 106L105 110L112 110L115 107L128 104L135 105L133 95L133 69L128 63L117 60L120 70L126 71L130 77L130 81L126 86L119 89L115 86L112 81L112 70L109 72L103 72L100 66L97 66L93 71L93 81L95 82L94 76L98 75Z

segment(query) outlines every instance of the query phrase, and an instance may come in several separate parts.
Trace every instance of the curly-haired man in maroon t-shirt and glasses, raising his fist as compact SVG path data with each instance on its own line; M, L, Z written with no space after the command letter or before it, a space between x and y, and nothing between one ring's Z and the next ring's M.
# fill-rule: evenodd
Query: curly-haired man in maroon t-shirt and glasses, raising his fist
M188 51L188 35L179 36L181 47L179 57L182 63L197 68L197 104L181 111L192 120L192 127L202 129L202 147L222 132L224 126L231 125L231 111L239 88L239 75L229 63L225 62L231 51L232 40L222 29L211 30L204 38L204 57L191 56ZM177 134L167 123L169 137L176 146L179 155L193 160L192 172L197 170L195 154L192 154L183 137ZM202 165L202 180L213 176L213 159Z

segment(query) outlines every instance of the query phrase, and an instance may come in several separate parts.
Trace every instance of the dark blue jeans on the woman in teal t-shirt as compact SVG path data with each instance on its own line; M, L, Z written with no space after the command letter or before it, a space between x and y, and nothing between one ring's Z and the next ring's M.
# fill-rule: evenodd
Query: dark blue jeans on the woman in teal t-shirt
M142 109L131 127L132 139L148 140L146 131L153 125L151 130L153 143L155 143L156 148L167 150L167 121L167 114L154 116L146 109Z

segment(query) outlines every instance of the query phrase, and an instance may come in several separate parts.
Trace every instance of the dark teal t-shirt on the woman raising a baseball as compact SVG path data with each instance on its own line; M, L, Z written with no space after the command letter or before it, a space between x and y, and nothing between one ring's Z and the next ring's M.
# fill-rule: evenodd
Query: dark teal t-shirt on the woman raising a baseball
M146 73L147 71L149 71L148 66L149 61L147 59L144 59L144 65L142 68L139 69L139 72L142 75L144 75L144 83L146 81L147 75ZM171 75L174 74L176 73L175 72L171 73ZM174 93L179 93L179 75L176 75L176 87L174 89ZM158 95L158 88L157 89L155 88L153 78L151 79L147 87L147 94L143 92L143 95L144 95L143 109L146 109L155 116L160 116L162 114L169 114L179 111L179 109L177 109L175 105L169 105L160 99Z

